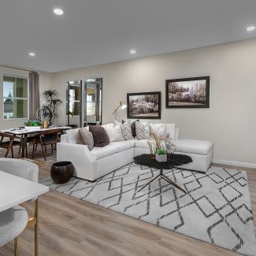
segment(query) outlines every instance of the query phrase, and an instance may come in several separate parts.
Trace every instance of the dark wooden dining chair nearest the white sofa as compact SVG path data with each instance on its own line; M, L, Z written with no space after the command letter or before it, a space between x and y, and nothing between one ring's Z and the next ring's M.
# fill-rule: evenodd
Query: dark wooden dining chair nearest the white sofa
M38 135L35 136L33 140L33 149L32 149L32 158L35 157L35 149L37 144L41 145L43 158L46 161L46 145L51 145L51 154L54 154L54 146L59 143L61 140L59 139L58 134L61 133L61 129L50 129L44 132L40 132Z

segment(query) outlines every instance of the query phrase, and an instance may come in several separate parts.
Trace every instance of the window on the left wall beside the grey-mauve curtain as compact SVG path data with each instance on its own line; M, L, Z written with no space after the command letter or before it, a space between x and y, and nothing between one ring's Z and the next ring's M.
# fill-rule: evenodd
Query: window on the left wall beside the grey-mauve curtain
M4 119L28 118L28 79L3 77Z

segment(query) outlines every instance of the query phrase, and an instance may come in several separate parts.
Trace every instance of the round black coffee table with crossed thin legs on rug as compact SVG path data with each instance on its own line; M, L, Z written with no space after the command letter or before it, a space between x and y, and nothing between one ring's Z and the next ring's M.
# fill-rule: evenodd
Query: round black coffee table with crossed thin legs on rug
M150 154L140 154L133 158L136 164L139 165L147 165L150 168L159 169L160 173L158 176L155 176L150 182L148 182L146 185L141 187L139 191L141 191L144 187L147 187L148 184L150 184L152 181L158 179L160 176L162 179L168 181L170 184L173 184L173 186L179 188L181 191L184 191L183 188L181 188L178 184L176 184L173 180L170 180L168 176L165 176L163 174L163 169L173 169L173 167L177 165L184 165L192 162L192 158L186 154L167 154L167 161L158 162L154 159L150 158ZM138 191L138 192L139 192ZM186 193L186 191L184 191Z

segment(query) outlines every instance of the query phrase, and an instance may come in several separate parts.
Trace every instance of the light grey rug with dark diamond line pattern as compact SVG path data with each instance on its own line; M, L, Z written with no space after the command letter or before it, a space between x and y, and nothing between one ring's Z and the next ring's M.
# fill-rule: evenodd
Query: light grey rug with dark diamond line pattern
M137 192L158 173L158 169L132 162L95 182L73 177L69 183L58 185L46 177L40 183L185 236L240 254L256 255L245 172L219 167L210 167L206 173L164 170L187 193L163 179L154 180Z

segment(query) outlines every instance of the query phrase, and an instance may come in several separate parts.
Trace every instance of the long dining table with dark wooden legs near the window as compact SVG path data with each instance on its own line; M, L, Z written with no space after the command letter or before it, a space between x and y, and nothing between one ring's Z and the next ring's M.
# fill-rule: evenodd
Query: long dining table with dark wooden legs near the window
M6 132L12 135L22 135L22 147L21 147L21 158L25 157L25 149L27 146L28 141L28 135L32 134L40 134L43 132L46 132L51 129L61 129L62 133L66 130L69 130L70 126L50 126L49 128L41 128L41 127L25 127L25 128L9 128L9 129L3 129L1 132Z

